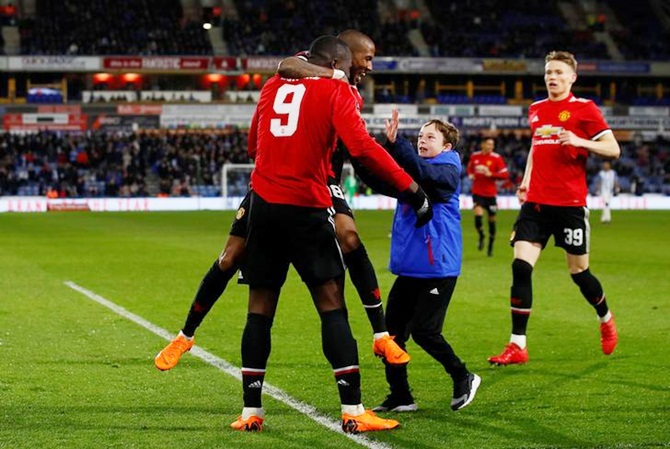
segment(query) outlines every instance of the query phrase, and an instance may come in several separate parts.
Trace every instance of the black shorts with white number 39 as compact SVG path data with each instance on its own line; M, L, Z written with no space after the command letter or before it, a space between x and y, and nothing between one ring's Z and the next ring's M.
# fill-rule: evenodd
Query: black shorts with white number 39
M568 254L588 254L591 239L588 208L524 203L514 223L510 243L540 243L544 249L552 235L554 244Z

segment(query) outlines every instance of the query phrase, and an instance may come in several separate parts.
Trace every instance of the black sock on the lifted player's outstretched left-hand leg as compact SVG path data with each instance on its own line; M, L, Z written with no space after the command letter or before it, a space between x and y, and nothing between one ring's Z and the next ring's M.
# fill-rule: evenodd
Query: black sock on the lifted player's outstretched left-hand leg
M198 291L186 316L186 322L181 330L184 335L192 337L195 334L195 330L200 326L202 320L226 289L228 281L235 276L237 268L237 266L234 266L226 271L221 271L218 260L209 268L200 282Z

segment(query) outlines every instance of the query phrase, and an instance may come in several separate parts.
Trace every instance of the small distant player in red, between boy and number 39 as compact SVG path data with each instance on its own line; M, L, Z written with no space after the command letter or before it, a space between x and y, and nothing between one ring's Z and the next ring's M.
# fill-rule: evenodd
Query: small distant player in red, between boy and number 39
M468 177L472 180L472 202L474 204L475 228L479 234L477 249L484 249L484 229L482 217L484 211L489 222L489 245L487 255L493 255L493 241L496 236L496 213L498 212L498 187L496 181L509 178L507 164L501 155L494 152L495 139L484 137L481 151L475 151L468 161Z

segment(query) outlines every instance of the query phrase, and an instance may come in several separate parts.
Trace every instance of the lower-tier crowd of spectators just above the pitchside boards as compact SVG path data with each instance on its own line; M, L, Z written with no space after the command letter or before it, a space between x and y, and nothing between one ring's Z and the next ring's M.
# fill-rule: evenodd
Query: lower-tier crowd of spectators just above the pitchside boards
M410 141L416 136L405 134ZM479 150L482 135L464 132L458 150L463 163ZM526 131L496 135L496 151L506 160L510 179L502 194L513 194L523 177L530 138ZM247 132L236 128L211 132L0 134L0 195L48 195L61 198L97 196L215 196L221 194L221 167L245 164ZM614 161L622 191L670 194L670 141L658 137L622 144ZM600 170L590 158L588 182ZM246 189L248 172L231 180L231 195ZM470 190L464 175L463 193ZM359 182L359 193L367 193Z

